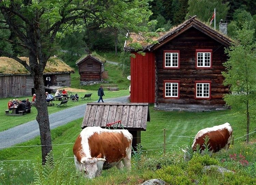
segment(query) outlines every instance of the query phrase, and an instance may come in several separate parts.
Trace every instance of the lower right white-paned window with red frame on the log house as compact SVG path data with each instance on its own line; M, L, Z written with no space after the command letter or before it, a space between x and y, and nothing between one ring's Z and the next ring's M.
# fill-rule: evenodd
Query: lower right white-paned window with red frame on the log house
M211 98L211 82L196 82L196 98Z

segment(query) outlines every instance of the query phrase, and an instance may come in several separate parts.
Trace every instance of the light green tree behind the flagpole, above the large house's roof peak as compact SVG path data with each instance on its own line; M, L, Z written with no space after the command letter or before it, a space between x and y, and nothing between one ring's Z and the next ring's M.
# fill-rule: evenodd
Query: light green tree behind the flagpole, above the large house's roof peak
M229 10L229 3L223 3L222 0L189 0L188 1L188 16L197 15L197 18L205 23L210 23L214 8L216 8L216 28L218 28L219 20L225 19ZM212 24L214 27L214 24Z

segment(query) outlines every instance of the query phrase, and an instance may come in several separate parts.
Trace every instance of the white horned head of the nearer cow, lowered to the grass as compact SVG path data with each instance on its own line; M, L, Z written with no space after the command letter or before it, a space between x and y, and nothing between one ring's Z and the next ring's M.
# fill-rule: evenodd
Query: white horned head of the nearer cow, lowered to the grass
M106 160L101 158L101 154L97 157L87 158L81 161L80 171L84 172L86 178L93 179L100 175L104 161Z

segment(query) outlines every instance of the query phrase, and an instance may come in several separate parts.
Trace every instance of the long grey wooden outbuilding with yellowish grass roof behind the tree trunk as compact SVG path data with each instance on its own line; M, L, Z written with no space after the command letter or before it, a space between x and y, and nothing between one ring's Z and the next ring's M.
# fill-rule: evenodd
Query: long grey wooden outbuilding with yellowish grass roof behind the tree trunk
M20 57L28 62L28 58ZM44 80L46 85L46 76L51 78L50 86L68 86L70 87L70 73L74 70L65 62L57 57L52 57L54 64L46 65L44 69ZM0 98L22 97L34 94L34 82L31 74L19 62L12 58L0 57Z

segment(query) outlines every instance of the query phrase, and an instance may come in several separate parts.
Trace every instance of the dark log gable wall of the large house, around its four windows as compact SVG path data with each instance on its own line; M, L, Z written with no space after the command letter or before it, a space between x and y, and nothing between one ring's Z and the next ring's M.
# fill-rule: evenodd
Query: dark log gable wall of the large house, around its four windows
M212 49L212 69L196 69L196 49ZM180 69L163 69L163 51L180 51ZM156 104L225 104L223 95L229 88L223 86L227 61L224 46L195 28L190 28L155 51L156 56ZM180 80L180 98L163 98L164 80ZM211 99L195 99L195 81L211 81Z

